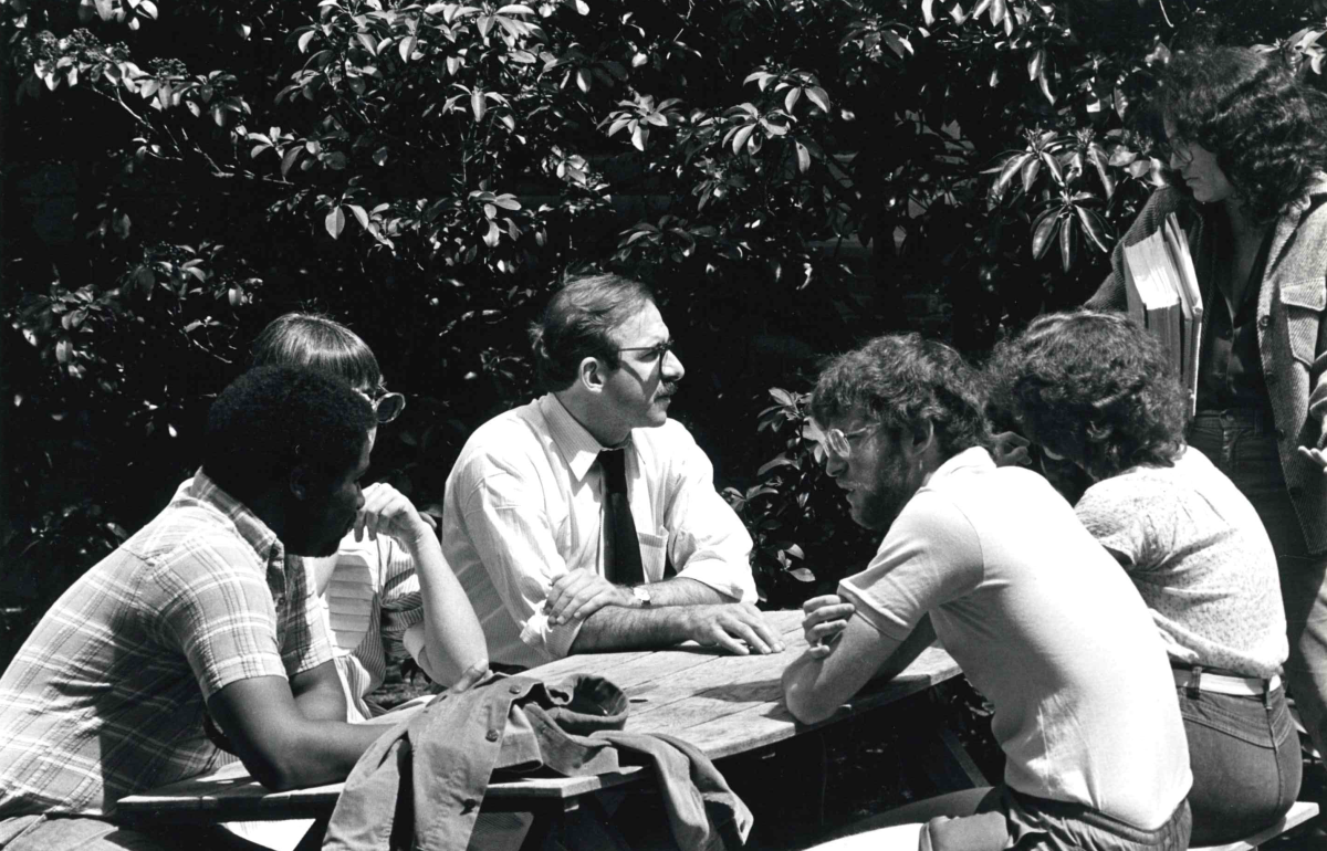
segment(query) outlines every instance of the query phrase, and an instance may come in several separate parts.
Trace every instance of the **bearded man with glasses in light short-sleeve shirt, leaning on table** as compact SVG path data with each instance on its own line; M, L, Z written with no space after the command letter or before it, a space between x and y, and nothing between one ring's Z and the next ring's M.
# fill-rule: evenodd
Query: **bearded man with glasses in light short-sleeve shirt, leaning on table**
M1189 756L1147 607L1044 479L995 465L985 407L958 353L916 334L873 339L816 382L827 471L884 539L805 603L790 712L831 717L938 636L994 704L1006 757L1001 786L900 807L824 850L1182 851Z

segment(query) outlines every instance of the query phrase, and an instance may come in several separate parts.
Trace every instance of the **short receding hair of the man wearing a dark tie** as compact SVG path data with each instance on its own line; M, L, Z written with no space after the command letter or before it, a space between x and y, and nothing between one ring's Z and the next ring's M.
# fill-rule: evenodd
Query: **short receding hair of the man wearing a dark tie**
M540 386L549 392L567 390L585 358L616 367L621 359L610 334L646 304L654 304L650 288L620 274L569 280L529 329Z

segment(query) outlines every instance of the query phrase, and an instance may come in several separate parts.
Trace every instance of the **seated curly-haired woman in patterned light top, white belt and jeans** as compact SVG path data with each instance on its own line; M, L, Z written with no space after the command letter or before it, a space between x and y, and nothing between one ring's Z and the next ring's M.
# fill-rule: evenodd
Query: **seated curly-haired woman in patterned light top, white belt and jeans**
M1152 612L1189 740L1194 844L1275 823L1303 769L1277 557L1249 500L1185 445L1185 392L1158 343L1121 314L1052 314L989 374L994 407L1092 482L1075 512Z

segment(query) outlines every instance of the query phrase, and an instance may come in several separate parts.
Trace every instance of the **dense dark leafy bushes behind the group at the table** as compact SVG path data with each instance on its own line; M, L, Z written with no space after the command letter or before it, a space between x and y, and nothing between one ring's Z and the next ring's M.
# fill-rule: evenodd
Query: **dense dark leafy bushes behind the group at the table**
M410 396L373 476L441 500L528 399L568 272L652 282L674 415L795 604L869 555L805 437L817 359L981 353L1082 301L1151 191L1169 50L1320 72L1289 0L0 0L0 663L165 504L275 315L324 310ZM775 390L770 390L774 387ZM779 390L784 388L784 390Z

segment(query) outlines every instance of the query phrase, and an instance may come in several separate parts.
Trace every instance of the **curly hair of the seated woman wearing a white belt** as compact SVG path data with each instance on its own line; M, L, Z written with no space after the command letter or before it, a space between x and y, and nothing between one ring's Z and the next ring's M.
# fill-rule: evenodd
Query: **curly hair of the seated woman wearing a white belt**
M1093 479L1170 467L1184 448L1184 388L1157 341L1123 314L1039 317L995 347L986 371L991 404Z

